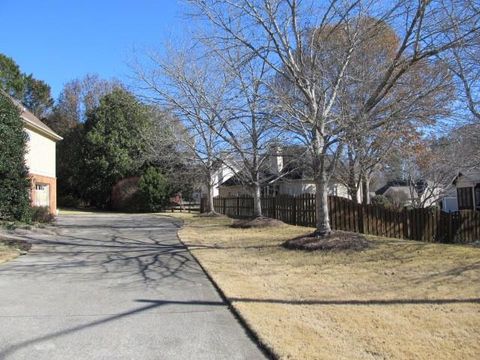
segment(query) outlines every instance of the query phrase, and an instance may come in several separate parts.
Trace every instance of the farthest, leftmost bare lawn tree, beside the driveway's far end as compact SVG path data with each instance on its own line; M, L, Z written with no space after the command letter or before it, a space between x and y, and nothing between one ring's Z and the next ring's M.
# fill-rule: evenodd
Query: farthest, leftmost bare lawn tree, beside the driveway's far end
M228 79L218 64L201 57L195 48L170 49L166 56L148 54L148 63L135 66L142 90L153 103L179 119L185 129L177 139L192 155L208 194L207 212L214 213L215 172L225 157L222 133Z

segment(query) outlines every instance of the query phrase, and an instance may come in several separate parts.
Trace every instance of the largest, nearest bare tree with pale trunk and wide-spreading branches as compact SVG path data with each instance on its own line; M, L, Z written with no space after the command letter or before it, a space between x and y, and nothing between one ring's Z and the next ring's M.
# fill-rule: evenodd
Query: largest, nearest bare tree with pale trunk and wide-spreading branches
M288 114L289 129L303 138L312 153L317 236L331 231L327 185L347 126L358 124L360 131L371 131L395 121L367 120L378 107L394 101L389 95L418 63L478 36L478 26L469 23L478 11L465 9L460 0L445 2L452 11L457 5L461 8L456 12L456 25L465 24L451 38L441 36L454 25L437 1L190 0L196 15L214 26L212 39L225 49L241 47L249 57L263 59L272 74L294 87L296 101L291 96L280 97L279 104ZM365 25L365 17L376 21ZM398 34L399 46L390 60L373 65L377 74L373 86L345 121L338 100L348 70L363 54L358 51L360 45L386 23ZM336 46L332 37L342 37L344 45ZM333 161L327 161L329 155Z

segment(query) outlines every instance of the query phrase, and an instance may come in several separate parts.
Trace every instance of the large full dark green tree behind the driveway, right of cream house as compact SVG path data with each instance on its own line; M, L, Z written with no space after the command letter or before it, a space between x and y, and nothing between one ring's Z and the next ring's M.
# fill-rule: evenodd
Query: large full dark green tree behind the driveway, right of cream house
M85 201L99 208L110 205L113 185L137 174L145 163L150 129L146 106L123 89L104 96L87 114L79 173Z

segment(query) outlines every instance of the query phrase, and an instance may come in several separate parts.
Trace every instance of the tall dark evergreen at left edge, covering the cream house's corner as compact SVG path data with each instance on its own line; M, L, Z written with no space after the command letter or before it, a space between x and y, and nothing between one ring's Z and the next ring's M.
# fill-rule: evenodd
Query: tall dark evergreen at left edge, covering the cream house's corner
M0 91L0 219L3 220L28 221L30 217L26 142L17 106Z

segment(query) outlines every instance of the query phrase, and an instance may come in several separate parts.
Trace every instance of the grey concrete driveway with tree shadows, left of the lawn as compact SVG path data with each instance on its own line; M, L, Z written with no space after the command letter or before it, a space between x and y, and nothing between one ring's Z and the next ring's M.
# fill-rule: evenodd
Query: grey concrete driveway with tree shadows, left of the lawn
M263 359L154 215L60 216L0 265L0 359Z

